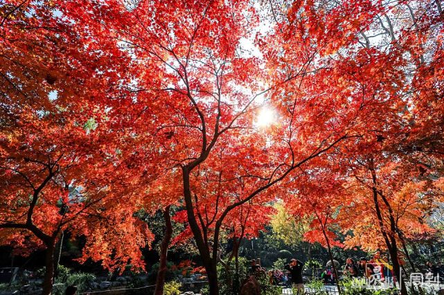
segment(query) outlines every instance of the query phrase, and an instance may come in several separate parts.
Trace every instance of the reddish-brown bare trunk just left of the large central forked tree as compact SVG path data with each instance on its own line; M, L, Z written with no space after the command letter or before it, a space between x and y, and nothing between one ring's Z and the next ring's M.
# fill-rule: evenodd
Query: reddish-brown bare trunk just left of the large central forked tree
M170 208L171 206L167 206L163 211L163 220L165 220L166 230L162 238L161 247L160 247L159 271L157 272L156 289L154 289L154 295L162 295L163 285L165 285L166 260L168 254L168 247L170 246L170 241L172 237Z

